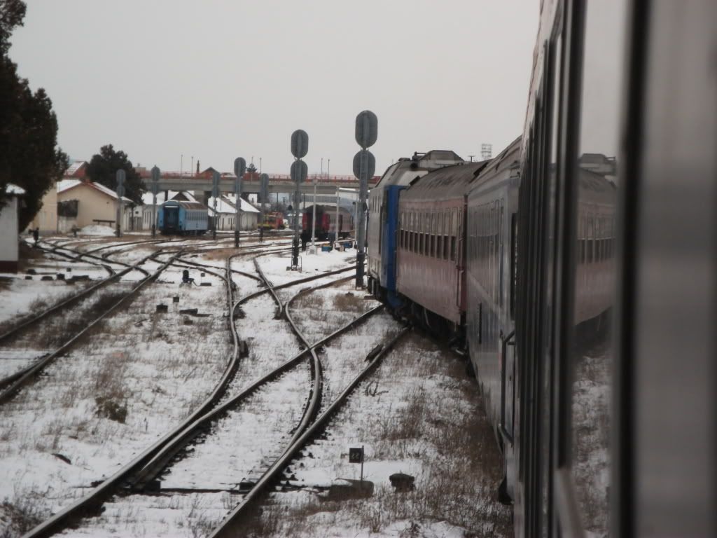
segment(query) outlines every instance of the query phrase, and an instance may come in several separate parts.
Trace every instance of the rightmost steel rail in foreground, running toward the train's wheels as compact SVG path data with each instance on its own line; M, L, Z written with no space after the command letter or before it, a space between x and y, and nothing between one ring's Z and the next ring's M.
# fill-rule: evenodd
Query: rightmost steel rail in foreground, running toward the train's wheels
M241 503L239 503L239 505L232 510L219 527L212 531L212 534L209 534L209 538L229 538L237 536L239 529L235 528L234 525L238 524L239 519L245 514L248 507L260 498L260 495L267 489L268 486L274 483L277 475L286 466L288 466L298 451L301 450L301 448L303 448L303 446L312 438L314 438L320 428L323 428L328 423L328 420L331 419L341 405L346 402L353 390L356 389L356 386L379 366L381 359L384 358L384 355L386 355L388 351L390 351L397 343L397 341L405 336L409 330L409 327L404 327L403 331L397 334L397 336L394 336L393 339L384 345L381 351L379 351L379 353L371 359L368 366L361 370L361 372L359 372L359 374L357 374L356 377L354 377L353 380L346 386L343 392L336 397L336 400L334 400L331 405L327 407L326 411L321 413L313 424L310 425L307 430L305 430L305 432L303 432L303 434L300 435L300 437L285 450L282 456L280 456L280 458L278 458L277 461L275 461L275 463L273 463L273 465L262 475L255 486L246 495L244 495ZM370 354L368 357L370 357Z

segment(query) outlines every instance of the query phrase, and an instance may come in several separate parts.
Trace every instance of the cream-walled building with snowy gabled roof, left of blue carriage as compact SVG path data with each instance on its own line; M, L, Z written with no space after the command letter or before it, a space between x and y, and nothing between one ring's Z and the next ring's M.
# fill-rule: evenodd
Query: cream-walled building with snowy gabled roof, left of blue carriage
M72 226L83 228L88 225L116 226L117 220L117 194L99 183L82 179L62 179L57 182L57 203L77 201L77 214L75 217L60 217L58 227L60 232L69 232ZM122 197L123 211L121 222L123 230L131 226L132 200Z

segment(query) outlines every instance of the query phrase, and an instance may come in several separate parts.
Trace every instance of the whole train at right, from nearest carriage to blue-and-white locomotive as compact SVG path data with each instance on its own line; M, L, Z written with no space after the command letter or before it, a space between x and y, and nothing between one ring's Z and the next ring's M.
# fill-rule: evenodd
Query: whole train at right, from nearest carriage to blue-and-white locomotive
M523 136L445 184L465 186L465 302L443 200L419 196L454 171L399 161L371 193L369 289L465 318L516 536L717 535L716 20L711 0L541 2Z

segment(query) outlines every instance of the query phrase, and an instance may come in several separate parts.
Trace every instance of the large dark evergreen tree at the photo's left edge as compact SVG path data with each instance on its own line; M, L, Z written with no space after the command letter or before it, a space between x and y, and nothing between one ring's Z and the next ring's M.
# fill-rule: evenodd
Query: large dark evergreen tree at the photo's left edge
M0 0L0 207L7 184L25 189L20 229L29 225L42 207L42 197L62 178L67 155L57 146L57 117L42 88L35 93L7 56L9 37L22 26L25 4Z

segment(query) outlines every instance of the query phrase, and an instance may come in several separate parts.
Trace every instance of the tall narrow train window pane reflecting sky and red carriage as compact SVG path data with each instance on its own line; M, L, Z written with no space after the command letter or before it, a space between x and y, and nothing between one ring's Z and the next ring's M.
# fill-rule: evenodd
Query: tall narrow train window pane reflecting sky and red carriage
M571 360L571 450L580 522L607 536L618 112L622 92L624 0L587 0L581 82L574 333ZM601 263L602 262L602 263Z

